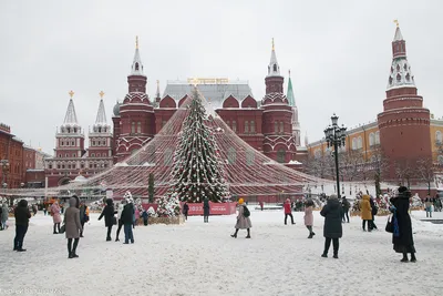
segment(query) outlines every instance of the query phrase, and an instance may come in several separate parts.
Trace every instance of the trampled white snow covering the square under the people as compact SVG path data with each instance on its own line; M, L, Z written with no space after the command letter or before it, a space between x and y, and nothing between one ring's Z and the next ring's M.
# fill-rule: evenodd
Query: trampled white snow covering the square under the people
M320 257L323 218L316 212L317 235L307 239L302 216L295 213L297 225L286 226L281 211L251 211L251 239L245 232L229 236L235 216L212 216L208 224L189 217L179 226L138 226L135 244L123 245L105 242L104 223L93 214L80 258L68 259L64 235L53 235L52 218L40 212L28 252L12 251L13 226L0 232L0 295L442 295L443 225L420 222L424 212L413 212L415 264L400 263L383 231L387 217L377 218L380 231L372 233L352 217L333 259L331 251Z

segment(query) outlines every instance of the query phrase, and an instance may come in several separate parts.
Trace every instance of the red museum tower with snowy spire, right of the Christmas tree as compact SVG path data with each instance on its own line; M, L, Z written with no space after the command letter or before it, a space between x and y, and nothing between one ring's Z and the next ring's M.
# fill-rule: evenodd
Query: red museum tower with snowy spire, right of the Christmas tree
M289 163L295 160L297 149L292 134L292 108L284 93L284 82L272 39L268 74L265 78L266 94L261 100L264 153L279 163Z

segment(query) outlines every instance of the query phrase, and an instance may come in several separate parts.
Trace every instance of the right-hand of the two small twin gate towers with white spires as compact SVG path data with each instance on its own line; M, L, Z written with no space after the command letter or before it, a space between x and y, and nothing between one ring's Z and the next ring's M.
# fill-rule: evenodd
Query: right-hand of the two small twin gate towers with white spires
M106 112L104 109L103 96L104 92L101 91L99 111L96 114L95 123L92 126L92 131L89 133L89 149L87 159L90 169L106 169L113 164L112 155L112 133L111 126L106 121Z

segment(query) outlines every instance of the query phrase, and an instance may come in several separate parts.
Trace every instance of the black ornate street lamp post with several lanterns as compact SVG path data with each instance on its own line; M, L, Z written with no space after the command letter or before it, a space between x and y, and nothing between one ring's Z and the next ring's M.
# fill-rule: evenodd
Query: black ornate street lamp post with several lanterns
M337 195L340 198L340 174L339 174L339 147L344 146L346 130L344 125L339 126L339 116L333 114L331 116L332 125L324 130L326 141L328 147L333 146L333 154L336 159L336 180L337 180Z

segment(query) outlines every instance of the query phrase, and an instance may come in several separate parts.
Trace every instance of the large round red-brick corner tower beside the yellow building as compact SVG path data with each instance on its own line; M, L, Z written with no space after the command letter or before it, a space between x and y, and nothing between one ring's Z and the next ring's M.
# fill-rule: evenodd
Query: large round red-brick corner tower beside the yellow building
M391 180L400 171L416 170L416 161L432 157L430 111L423 108L423 98L418 95L406 59L406 43L399 22L395 23L387 99L383 112L378 115L380 142L390 162Z

